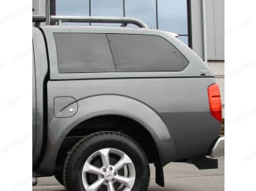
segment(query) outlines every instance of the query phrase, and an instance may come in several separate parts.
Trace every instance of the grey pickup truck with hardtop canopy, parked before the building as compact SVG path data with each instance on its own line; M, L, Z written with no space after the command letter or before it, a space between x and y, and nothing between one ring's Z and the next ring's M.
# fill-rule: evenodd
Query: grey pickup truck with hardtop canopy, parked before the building
M220 92L175 34L126 17L43 21L33 17L34 185L54 175L69 191L144 191L149 163L161 186L170 162L217 168Z

